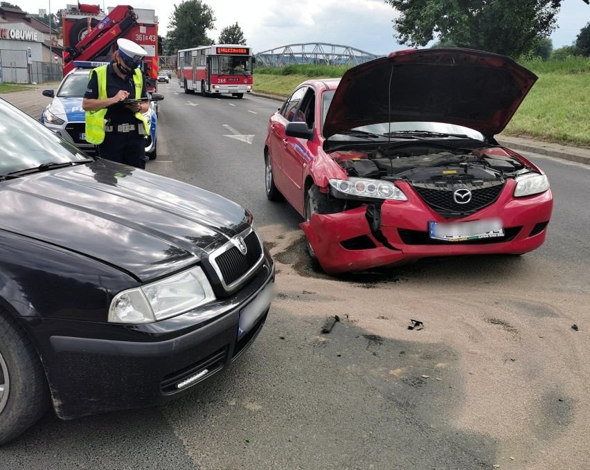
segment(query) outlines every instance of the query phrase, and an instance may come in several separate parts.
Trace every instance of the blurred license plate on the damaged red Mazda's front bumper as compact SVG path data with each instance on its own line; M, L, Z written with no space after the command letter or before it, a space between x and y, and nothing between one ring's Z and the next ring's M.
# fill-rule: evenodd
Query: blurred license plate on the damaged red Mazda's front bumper
M470 222L429 222L432 239L447 242L467 242L504 236L501 219L481 219Z

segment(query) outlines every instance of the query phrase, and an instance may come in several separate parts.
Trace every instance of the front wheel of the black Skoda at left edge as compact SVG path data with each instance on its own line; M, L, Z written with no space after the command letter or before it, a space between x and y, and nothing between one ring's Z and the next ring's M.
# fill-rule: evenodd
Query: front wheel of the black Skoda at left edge
M0 445L33 426L48 404L47 381L33 343L0 309Z

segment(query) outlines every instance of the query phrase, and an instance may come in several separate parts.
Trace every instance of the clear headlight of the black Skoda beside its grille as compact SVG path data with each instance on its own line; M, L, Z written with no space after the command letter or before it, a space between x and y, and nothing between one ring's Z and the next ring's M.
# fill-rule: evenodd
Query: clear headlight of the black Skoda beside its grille
M111 323L152 323L215 300L199 267L145 286L119 292L109 308Z

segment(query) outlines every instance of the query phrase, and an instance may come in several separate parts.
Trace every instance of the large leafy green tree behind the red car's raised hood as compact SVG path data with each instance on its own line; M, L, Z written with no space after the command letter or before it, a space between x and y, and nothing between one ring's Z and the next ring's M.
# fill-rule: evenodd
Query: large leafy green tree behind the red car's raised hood
M384 1L400 12L393 28L401 44L426 46L438 39L518 57L555 29L563 0Z

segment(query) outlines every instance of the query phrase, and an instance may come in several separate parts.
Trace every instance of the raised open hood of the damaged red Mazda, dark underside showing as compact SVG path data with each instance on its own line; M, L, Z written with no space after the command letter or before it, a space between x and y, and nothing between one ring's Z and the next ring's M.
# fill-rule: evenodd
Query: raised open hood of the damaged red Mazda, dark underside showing
M506 127L536 80L510 57L483 51L392 53L344 73L323 136L375 123L433 121L490 137Z

